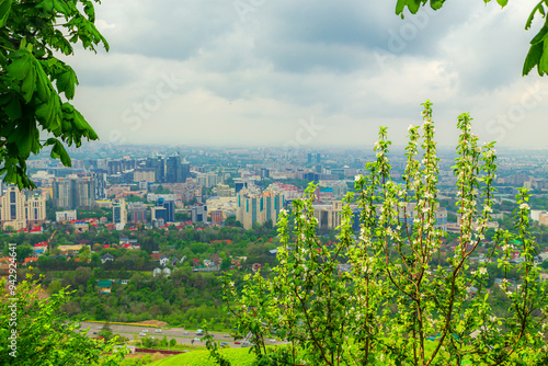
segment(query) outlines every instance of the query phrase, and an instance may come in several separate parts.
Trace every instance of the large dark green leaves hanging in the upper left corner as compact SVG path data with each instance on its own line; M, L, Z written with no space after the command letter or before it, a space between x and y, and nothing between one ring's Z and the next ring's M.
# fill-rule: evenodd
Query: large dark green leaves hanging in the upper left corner
M42 148L64 165L71 161L64 144L79 147L98 139L68 101L78 78L57 56L73 45L95 52L105 38L94 25L99 0L0 0L0 174L20 188L34 187L26 160Z

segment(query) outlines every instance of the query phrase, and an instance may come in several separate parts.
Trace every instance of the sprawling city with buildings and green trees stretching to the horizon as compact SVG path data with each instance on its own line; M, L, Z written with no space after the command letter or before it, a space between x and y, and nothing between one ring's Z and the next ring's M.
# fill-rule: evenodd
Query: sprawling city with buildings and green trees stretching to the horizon
M204 320L225 345L246 345L246 340L229 339L232 324L222 310L221 274L232 273L237 284L259 270L269 276L277 264L279 211L290 210L310 182L318 184L313 215L320 238L326 245L334 244L341 199L354 191L355 176L365 174L364 164L374 159L334 149L103 148L70 151L71 168L42 155L27 162L37 188L1 187L1 275L8 275L9 243L14 243L18 278L43 275L45 296L68 286L75 293L61 309L87 324L89 336L116 333L128 344L183 351L199 344L196 335L202 335ZM396 182L406 168L398 152L395 149L391 159ZM458 244L460 222L455 157L449 150L439 151L439 157L436 226L445 236L435 264L444 266ZM488 262L495 312L507 299L500 287L502 268L487 253L498 228L513 230L517 187L530 192L535 263L548 279L548 155L506 150L498 163L489 229L470 258L471 265ZM357 236L359 209L355 204L351 208ZM412 203L408 209L413 211ZM522 260L520 251L513 251L512 261ZM349 267L341 263L338 271ZM517 283L518 274L507 278ZM470 287L470 296L476 290ZM117 324L135 322L144 329Z

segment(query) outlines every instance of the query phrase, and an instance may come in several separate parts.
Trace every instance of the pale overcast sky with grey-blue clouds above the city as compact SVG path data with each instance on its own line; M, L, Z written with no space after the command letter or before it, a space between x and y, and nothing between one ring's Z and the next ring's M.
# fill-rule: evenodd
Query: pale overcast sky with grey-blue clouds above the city
M545 148L548 79L521 77L536 1L103 0L109 53L78 49L75 104L103 142L396 145L430 99L439 145L470 112L481 140Z

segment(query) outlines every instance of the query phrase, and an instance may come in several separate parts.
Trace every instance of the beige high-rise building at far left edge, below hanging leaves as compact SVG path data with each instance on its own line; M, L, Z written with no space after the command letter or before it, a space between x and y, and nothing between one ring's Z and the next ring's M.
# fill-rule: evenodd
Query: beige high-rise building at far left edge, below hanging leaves
M46 198L33 195L28 198L16 186L10 185L0 197L0 220L2 227L19 230L28 225L39 225L46 219Z

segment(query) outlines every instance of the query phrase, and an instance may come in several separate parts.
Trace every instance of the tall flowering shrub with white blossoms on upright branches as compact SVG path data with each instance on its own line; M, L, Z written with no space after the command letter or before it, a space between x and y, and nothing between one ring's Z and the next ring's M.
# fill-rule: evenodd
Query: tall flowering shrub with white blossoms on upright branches
M295 229L279 215L279 265L272 278L248 276L241 291L225 278L226 304L241 335L250 339L260 365L540 365L547 284L534 265L536 243L528 232L528 196L517 194L516 233L500 230L484 262L516 271L514 288L504 278L505 317L490 304L486 263L470 267L492 213L494 144L480 146L468 114L455 160L460 236L447 263L438 261L444 232L436 222L438 158L432 104L422 126L410 126L403 183L391 175L387 128L375 145L376 161L355 179L355 194L343 201L338 242L317 236L315 185L295 201ZM359 233L352 229L352 205ZM411 217L411 208L414 213ZM289 238L295 238L290 241ZM511 262L520 243L522 263ZM344 265L342 265L344 264ZM346 268L346 271L344 271ZM473 288L473 294L470 289ZM266 347L276 334L285 347Z

